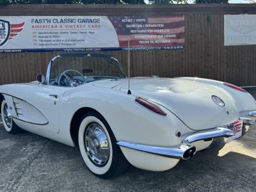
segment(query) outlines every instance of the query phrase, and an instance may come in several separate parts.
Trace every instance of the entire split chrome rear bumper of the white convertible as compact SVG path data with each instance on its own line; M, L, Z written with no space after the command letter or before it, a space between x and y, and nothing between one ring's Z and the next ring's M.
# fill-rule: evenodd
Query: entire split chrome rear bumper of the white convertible
M250 118L240 119L243 120L243 136L250 128L250 125L253 125L255 122ZM155 154L157 156L170 157L174 159L189 159L196 154L196 147L191 143L201 140L209 141L212 139L214 139L213 142L218 142L220 140L216 140L216 138L228 138L230 136L234 136L233 131L227 128L217 127L205 131L193 132L192 134L184 134L184 136L182 136L182 143L175 147L156 147L137 143L129 143L127 141L118 141L116 144L120 147L132 148L134 150ZM223 141L227 141L227 139Z

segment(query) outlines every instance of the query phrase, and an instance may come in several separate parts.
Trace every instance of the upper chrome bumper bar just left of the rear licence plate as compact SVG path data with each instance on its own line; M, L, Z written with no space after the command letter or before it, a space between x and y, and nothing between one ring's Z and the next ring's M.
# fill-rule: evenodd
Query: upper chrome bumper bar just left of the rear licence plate
M234 136L234 132L230 129L217 127L215 129L210 129L206 131L198 131L192 134L185 134L182 136L183 141L188 141L188 143L193 143L195 141L200 140L209 140L212 138L228 138L230 136Z

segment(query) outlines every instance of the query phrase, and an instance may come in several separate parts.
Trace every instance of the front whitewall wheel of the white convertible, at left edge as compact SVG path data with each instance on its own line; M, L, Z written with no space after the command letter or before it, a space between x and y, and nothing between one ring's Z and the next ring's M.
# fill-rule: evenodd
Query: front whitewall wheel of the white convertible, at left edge
M4 124L4 129L10 134L16 134L22 132L22 129L18 127L18 125L13 122L12 115L10 113L10 109L5 100L3 100L1 105L1 115Z

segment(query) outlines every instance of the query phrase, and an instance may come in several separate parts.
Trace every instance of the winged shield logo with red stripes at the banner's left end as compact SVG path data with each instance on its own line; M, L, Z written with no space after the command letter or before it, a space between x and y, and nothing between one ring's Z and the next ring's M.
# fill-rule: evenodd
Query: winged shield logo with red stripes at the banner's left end
M23 30L25 22L10 24L7 20L0 19L0 47L11 40Z

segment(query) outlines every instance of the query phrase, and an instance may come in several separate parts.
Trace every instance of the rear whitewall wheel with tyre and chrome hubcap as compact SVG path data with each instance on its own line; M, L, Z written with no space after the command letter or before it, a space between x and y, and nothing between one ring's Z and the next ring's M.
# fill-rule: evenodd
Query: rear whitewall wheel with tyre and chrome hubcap
M78 143L84 163L100 178L116 177L128 166L113 132L99 113L88 112L81 118Z

